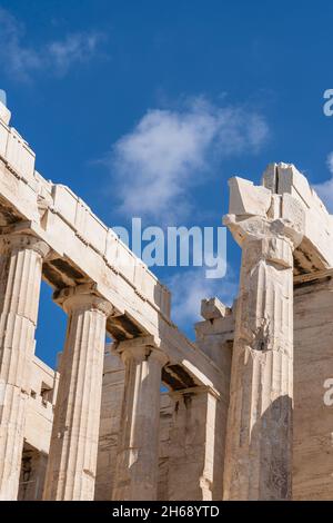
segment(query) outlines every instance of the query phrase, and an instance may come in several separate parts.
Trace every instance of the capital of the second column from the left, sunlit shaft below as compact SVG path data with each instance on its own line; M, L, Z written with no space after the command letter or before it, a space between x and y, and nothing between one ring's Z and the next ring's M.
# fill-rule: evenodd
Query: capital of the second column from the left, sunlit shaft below
M107 317L113 313L113 306L98 295L93 284L83 284L77 287L65 287L61 290L56 290L53 299L67 313L80 309L95 309L103 313Z

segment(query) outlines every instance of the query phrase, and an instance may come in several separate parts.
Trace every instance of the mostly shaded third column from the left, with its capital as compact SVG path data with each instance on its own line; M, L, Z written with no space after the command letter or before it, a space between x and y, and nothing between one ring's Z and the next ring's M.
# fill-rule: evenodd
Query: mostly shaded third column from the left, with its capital
M151 501L158 491L161 372L168 358L144 338L120 345L125 382L113 500Z

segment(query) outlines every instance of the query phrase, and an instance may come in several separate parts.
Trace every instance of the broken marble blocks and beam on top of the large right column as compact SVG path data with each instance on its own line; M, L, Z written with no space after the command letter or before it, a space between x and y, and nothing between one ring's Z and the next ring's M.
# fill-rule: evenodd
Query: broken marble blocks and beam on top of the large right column
M333 267L333 216L294 165L269 165L260 186L239 177L230 180L229 215L224 224L230 229L233 227L240 245L243 237L234 225L251 217L268 221L282 219L297 226L302 241L294 251L295 274Z

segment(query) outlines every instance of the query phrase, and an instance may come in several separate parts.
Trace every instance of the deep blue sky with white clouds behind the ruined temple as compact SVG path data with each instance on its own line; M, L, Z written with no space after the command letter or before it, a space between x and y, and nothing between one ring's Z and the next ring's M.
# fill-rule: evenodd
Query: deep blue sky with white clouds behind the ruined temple
M108 225L219 226L228 178L259 182L271 161L295 164L333 211L332 22L325 0L0 0L0 88L37 169ZM189 335L201 297L232 302L230 237L228 257L221 280L155 272ZM49 364L64 329L43 285L37 353Z

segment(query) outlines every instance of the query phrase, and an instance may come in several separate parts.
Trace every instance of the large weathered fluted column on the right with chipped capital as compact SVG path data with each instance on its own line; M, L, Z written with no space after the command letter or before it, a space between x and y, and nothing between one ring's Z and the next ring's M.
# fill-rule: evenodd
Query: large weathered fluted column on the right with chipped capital
M293 231L282 220L228 224L241 237L224 499L290 500Z

